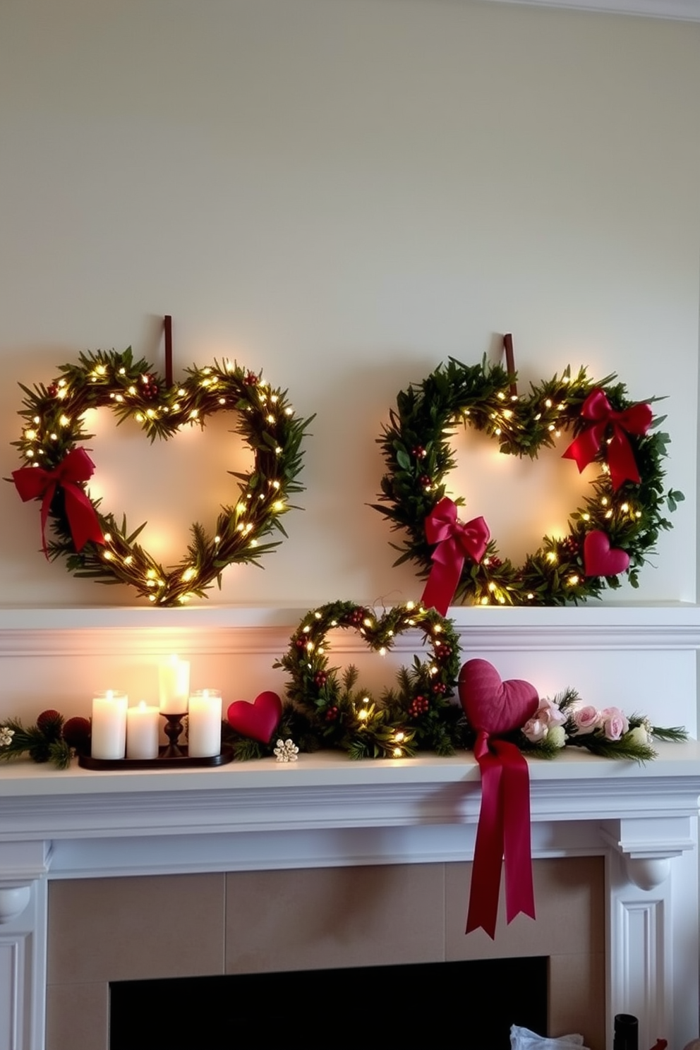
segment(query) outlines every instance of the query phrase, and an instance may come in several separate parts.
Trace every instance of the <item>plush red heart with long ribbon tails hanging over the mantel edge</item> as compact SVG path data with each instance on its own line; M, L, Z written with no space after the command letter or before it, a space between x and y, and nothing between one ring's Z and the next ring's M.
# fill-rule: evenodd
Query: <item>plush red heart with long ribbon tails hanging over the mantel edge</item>
M503 681L485 659L467 660L460 672L459 691L467 719L476 731L474 757L482 774L466 932L482 927L494 938L504 860L508 922L521 911L534 919L530 774L516 746L500 738L525 726L539 698L529 681Z

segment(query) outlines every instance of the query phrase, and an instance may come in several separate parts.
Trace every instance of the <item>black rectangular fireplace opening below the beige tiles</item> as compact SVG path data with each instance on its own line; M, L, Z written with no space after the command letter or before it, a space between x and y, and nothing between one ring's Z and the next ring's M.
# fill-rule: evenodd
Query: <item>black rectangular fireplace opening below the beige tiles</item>
M113 982L109 1050L327 1050L342 1032L365 1046L509 1050L511 1025L547 1034L547 971L532 957Z

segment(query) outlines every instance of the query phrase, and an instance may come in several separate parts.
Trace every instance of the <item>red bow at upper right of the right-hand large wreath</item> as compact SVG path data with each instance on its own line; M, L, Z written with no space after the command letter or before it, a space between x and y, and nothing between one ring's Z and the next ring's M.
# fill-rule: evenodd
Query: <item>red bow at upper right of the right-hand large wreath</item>
M581 417L590 420L591 426L574 438L561 458L575 460L580 472L595 459L610 425L613 436L608 445L608 466L613 488L618 489L624 481L639 484L639 470L628 434L646 434L654 418L652 406L642 402L624 412L615 412L604 391L596 386L584 401Z

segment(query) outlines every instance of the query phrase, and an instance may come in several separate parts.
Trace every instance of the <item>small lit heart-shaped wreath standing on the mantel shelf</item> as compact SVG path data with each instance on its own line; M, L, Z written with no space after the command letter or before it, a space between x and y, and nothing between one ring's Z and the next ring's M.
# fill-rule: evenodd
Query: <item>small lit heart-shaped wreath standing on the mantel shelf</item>
M410 630L423 633L432 653L410 668L402 667L397 687L379 700L357 684L353 666L338 675L328 667L330 631L359 632L373 651L384 655L396 638ZM351 758L401 758L420 750L450 755L462 743L462 712L450 702L460 666L460 642L449 620L412 602L377 615L354 602L331 602L312 609L275 664L290 673L284 731L303 750L340 748ZM290 718L289 708L301 715Z

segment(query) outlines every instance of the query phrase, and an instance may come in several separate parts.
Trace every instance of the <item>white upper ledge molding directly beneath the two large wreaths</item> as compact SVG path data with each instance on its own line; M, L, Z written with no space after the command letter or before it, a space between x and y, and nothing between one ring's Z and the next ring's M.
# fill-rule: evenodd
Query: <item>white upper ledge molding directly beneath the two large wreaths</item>
M700 0L699 0L700 2ZM25 611L13 623L0 611L0 657L52 656L161 656L170 652L190 655L281 656L305 609L207 609L206 615L177 620L164 617L169 610L65 610L46 617L37 610L30 626ZM115 611L128 615L109 615ZM177 610L178 611L178 610ZM233 615L231 614L233 612ZM98 613L102 613L99 615ZM489 652L539 651L673 651L700 649L700 609L697 606L586 607L576 609L449 610L465 650ZM365 653L360 638L343 631L333 639L333 650L346 655ZM413 653L415 642L402 635L396 653Z

